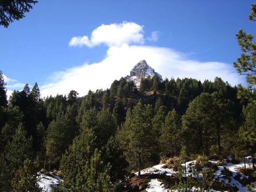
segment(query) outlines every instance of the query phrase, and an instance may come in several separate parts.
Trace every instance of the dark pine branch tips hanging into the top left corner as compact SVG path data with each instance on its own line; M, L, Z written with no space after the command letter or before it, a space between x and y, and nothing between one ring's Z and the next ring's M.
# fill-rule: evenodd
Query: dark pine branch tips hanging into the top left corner
M8 28L14 20L20 20L25 17L25 13L32 9L32 4L38 1L34 0L8 0L0 1L0 26Z

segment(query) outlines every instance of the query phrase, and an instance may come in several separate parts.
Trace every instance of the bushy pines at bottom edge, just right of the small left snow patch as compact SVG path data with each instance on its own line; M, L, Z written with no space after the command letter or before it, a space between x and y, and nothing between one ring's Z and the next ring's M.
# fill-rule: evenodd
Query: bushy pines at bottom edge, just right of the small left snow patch
M61 168L64 181L60 182L56 191L111 191L110 164L104 164L98 149L88 158L88 148L83 148L82 145L85 144L76 138L63 157Z

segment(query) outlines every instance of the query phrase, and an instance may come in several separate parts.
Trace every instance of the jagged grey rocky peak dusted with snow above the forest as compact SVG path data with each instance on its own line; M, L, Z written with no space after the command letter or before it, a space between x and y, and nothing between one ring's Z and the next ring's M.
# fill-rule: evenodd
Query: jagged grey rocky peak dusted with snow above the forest
M142 78L147 78L148 76L152 78L154 75L158 76L161 82L163 81L162 76L155 72L155 70L150 67L145 60L142 60L130 71L130 76L128 75L124 79L126 81L134 81L134 84L139 88Z

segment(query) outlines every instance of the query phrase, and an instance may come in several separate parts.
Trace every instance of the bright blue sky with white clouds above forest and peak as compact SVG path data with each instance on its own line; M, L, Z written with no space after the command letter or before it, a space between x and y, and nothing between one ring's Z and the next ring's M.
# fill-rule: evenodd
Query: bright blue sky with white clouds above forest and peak
M236 32L251 0L38 0L26 17L0 27L0 70L8 94L38 83L42 96L109 88L140 60L163 78L219 76L242 83L233 62Z

